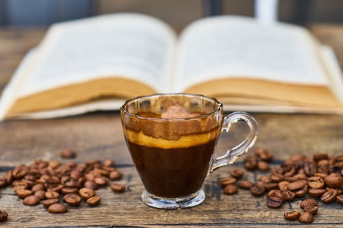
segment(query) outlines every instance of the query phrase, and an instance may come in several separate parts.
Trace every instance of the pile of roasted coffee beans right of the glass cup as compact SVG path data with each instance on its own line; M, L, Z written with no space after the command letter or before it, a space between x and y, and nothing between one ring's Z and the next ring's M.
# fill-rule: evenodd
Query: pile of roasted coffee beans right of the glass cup
M300 223L312 223L318 212L315 200L320 198L322 203L337 201L343 204L343 155L329 157L318 153L313 158L305 155L292 155L283 164L270 169L268 162L273 155L267 149L257 149L254 155L244 159L246 170L270 170L268 175L260 175L257 183L237 179L244 176L245 170L235 168L230 171L231 177L220 180L224 194L235 194L238 188L248 189L257 197L266 193L266 204L270 208L279 208L285 201L305 197L307 194L314 199L305 199L300 207L303 212L285 212L288 220L298 219Z

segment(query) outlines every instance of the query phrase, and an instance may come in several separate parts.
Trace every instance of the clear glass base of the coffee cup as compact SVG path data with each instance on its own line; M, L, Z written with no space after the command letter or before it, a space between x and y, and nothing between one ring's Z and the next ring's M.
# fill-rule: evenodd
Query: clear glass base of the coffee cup
M143 203L150 207L162 209L182 209L186 207L195 207L205 200L205 192L198 190L198 192L190 194L187 197L180 198L162 198L150 194L146 190L142 193L141 197Z

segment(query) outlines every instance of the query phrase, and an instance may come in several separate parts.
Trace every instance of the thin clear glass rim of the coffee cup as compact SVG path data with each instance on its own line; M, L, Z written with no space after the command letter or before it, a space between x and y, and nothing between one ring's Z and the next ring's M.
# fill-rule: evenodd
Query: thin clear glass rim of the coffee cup
M210 99L217 103L218 107L213 110L212 112L202 114L199 116L191 116L191 117L180 117L180 118L155 118L155 117L146 117L146 116L139 116L137 114L133 114L132 112L128 112L128 110L125 109L125 106L128 105L131 101L134 101L136 99L141 99L141 98L147 98L147 97L155 97L155 96L180 96L180 95L186 95L186 96L193 96L193 97L203 97L205 99ZM215 112L218 112L222 109L223 104L220 103L217 99L214 97L206 97L202 94L191 94L191 93L184 93L184 92L176 92L176 93L155 93L155 94L150 94L150 95L143 95L139 97L135 97L132 99L128 99L121 105L120 111L123 112L123 114L134 117L134 118L139 118L139 119L145 119L145 120L155 120L155 121L185 121L185 120L191 120L191 119L196 119L204 116L211 116L212 114L215 114Z

